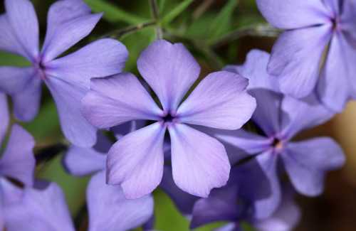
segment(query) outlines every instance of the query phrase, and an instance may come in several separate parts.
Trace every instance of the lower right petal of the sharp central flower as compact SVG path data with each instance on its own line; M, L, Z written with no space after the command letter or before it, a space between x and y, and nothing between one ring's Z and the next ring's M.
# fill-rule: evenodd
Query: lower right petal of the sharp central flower
M212 188L226 184L230 163L219 141L184 124L172 124L168 129L173 179L179 188L206 198Z

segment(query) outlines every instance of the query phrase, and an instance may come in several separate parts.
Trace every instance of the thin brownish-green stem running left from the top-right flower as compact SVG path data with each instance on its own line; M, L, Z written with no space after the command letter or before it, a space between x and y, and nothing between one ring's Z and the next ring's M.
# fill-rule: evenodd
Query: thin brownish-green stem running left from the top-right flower
M219 38L217 41L214 41L212 43L212 47L219 48L222 45L226 45L231 41L235 41L245 36L276 38L279 35L279 33L281 33L280 30L278 30L277 28L273 28L267 24L251 26L246 28L239 28L236 31L232 31L231 33L227 34L226 36Z

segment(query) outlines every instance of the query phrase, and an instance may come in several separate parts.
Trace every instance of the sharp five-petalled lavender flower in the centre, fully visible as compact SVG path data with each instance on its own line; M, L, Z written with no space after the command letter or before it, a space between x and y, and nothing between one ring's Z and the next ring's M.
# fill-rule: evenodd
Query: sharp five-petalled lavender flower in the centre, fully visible
M163 144L169 131L174 182L182 190L206 197L224 186L230 164L224 146L186 124L239 129L256 102L245 91L248 81L232 72L213 72L184 102L199 77L199 64L182 44L155 41L137 60L142 77L162 109L130 73L93 79L83 98L83 114L98 128L134 119L157 121L119 139L108 154L108 183L120 184L127 198L151 193L163 175Z

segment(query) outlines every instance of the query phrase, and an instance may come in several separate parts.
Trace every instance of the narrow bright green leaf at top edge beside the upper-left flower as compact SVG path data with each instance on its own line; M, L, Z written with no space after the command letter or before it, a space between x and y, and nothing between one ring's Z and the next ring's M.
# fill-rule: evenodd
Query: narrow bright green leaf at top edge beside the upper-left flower
M122 21L129 24L138 24L147 21L147 18L141 18L135 14L130 14L120 7L110 4L103 0L85 0L90 8L97 13L104 12L103 18L111 23Z

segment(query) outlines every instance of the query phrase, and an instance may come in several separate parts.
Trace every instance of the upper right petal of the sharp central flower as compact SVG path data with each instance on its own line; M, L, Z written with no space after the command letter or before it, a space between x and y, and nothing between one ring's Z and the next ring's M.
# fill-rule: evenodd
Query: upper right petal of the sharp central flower
M180 122L217 129L240 129L251 118L256 100L245 91L248 80L227 71L206 76L178 108Z

